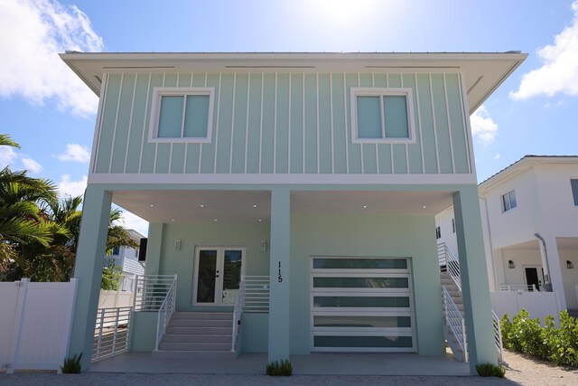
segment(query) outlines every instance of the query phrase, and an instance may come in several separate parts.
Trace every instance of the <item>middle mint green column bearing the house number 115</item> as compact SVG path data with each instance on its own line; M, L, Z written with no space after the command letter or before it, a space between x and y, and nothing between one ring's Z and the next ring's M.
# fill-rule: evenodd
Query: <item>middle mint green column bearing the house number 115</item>
M269 275L269 362L289 359L291 192L271 192L271 249Z

